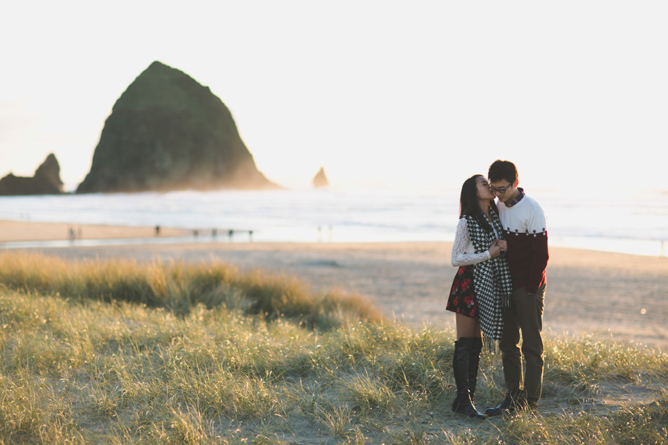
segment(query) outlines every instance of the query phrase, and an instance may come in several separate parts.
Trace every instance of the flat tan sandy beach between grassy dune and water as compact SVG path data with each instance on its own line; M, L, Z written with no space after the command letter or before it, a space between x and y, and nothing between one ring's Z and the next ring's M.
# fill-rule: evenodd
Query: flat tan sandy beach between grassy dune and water
M163 236L170 229L161 230ZM174 230L172 236L183 235ZM88 238L154 236L152 228L84 225ZM67 225L0 221L0 243L57 239ZM239 270L262 269L303 280L314 291L330 288L369 298L388 317L415 326L454 326L445 311L456 268L450 243L230 243L114 245L33 248L26 251L66 259L132 258L224 261ZM1 250L0 250L1 253ZM583 332L668 347L668 259L629 254L551 248L547 270L544 330Z

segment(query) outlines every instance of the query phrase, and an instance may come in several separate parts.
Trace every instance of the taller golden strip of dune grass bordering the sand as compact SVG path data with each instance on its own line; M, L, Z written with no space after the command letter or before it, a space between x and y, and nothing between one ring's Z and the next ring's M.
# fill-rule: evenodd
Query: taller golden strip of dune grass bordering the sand
M260 271L240 274L234 266L214 262L63 261L41 254L4 253L0 283L76 300L138 303L179 315L203 304L241 309L269 321L287 317L308 327L335 326L349 318L380 319L358 295L339 291L312 295L294 277Z

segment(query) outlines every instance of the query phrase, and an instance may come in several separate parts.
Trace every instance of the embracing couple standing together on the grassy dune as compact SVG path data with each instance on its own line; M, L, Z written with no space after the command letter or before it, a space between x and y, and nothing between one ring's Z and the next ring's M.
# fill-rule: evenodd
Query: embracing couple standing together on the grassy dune
M479 419L534 410L538 405L548 264L545 215L518 187L514 163L495 161L487 176L474 175L461 187L452 247L452 266L459 270L446 307L456 313L452 369L457 395L452 410ZM508 392L500 405L481 414L474 396L483 338L486 350L501 351Z

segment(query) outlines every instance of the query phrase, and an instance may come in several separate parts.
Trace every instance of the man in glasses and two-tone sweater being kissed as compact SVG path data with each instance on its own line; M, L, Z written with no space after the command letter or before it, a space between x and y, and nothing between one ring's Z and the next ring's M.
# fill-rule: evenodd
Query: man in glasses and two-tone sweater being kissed
M503 314L499 344L508 394L485 414L513 414L535 409L543 388L543 298L548 265L548 232L539 204L519 188L517 168L510 161L489 167L490 191L498 197L498 210L506 232L507 258L513 281L511 307ZM522 349L520 351L520 332ZM527 362L523 375L522 355Z

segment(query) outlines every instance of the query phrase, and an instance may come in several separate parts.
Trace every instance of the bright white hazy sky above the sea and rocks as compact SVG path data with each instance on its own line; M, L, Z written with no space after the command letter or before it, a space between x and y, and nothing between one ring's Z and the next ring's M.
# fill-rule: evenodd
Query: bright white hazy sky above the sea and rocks
M53 152L90 169L154 60L230 108L287 187L459 187L495 159L520 186L661 188L664 1L0 0L0 177Z

